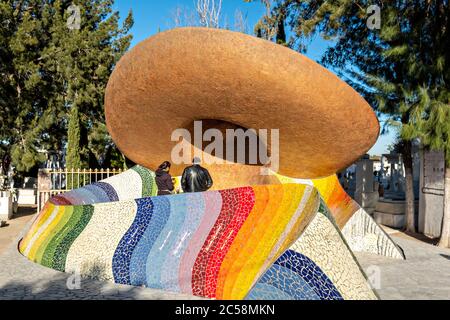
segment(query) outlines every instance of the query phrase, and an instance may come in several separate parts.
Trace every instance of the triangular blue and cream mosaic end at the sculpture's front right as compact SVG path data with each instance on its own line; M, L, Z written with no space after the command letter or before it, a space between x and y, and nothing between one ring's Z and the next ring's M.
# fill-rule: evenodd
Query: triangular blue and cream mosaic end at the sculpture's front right
M292 285L296 283L296 285ZM321 199L313 221L246 299L378 299Z

